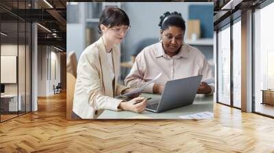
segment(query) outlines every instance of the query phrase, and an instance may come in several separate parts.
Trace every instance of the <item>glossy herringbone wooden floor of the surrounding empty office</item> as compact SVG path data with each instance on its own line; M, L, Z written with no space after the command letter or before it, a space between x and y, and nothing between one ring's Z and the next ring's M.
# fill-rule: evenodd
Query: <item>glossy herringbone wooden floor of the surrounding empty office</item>
M0 152L274 152L274 120L214 105L214 120L66 121L66 96L0 124Z

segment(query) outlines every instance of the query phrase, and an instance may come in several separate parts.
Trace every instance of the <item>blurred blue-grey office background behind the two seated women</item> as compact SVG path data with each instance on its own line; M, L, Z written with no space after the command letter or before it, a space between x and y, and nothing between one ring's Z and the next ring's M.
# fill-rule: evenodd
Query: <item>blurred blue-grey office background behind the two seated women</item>
M160 37L160 16L164 12L177 11L186 20L186 33L184 41L199 48L206 55L212 70L214 70L213 57L213 3L77 3L67 5L67 53L75 51L77 60L86 46L99 38L97 26L99 14L103 8L114 5L125 10L129 16L131 29L121 43L121 80L129 72L132 63L132 55L136 56L142 48L158 42ZM197 10L199 10L197 12ZM78 13L77 13L78 12ZM195 41L187 38L188 20L200 21L201 37Z

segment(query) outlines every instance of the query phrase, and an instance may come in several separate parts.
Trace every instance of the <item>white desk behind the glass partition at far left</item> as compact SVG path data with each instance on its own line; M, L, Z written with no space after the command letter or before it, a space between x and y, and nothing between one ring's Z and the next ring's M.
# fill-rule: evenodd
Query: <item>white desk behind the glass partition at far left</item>
M5 104L8 104L7 111L21 111L21 94L18 94L18 105L17 105L17 94L4 94L1 95L1 107ZM8 101L7 101L8 100ZM3 108L3 107L2 107Z

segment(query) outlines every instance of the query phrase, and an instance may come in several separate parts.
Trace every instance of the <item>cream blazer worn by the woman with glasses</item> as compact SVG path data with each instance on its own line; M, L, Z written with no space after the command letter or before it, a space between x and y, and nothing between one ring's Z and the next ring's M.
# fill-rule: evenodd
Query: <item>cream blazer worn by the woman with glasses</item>
M120 50L115 45L112 48L114 66L114 82L110 78L111 67L100 38L88 46L79 58L77 80L73 98L73 112L83 119L97 118L103 110L119 111L122 100L113 98L121 95L125 86L117 84L119 76Z

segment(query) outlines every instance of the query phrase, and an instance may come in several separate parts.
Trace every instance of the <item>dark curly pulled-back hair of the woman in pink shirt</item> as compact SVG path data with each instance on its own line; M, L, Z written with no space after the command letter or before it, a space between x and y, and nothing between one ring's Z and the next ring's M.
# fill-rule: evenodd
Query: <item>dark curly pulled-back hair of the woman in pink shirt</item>
M178 12L165 12L164 15L160 16L159 26L161 30L168 29L169 26L176 26L181 28L183 31L186 31L184 18L181 13Z

